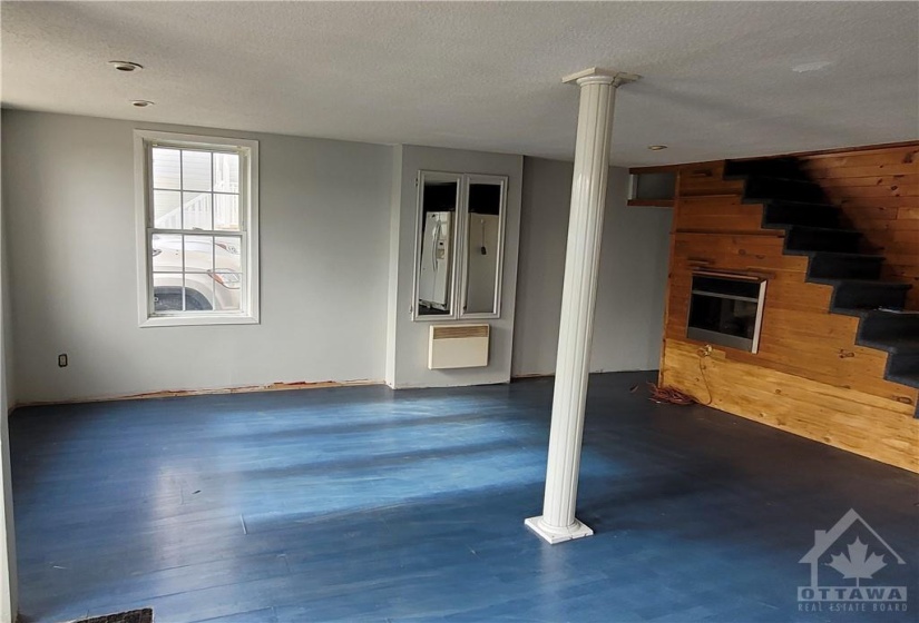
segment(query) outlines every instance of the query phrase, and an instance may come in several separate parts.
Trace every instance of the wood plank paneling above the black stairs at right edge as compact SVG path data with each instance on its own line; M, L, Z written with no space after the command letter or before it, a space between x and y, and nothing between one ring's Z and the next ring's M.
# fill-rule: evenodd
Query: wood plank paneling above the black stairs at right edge
M867 249L887 257L883 276L912 284L919 309L919 144L804 156L814 181L864 234Z

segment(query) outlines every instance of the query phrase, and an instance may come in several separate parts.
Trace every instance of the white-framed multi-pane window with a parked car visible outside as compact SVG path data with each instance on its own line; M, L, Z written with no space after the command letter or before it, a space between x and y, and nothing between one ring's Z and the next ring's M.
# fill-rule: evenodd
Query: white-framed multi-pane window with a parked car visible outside
M140 326L258 323L258 142L134 140Z

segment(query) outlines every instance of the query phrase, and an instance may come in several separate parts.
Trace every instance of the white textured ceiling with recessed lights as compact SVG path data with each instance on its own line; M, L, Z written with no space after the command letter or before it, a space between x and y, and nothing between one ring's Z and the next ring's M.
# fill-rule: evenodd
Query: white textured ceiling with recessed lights
M577 88L560 78L599 66L644 76L618 93L619 165L919 138L917 2L0 10L9 108L570 158Z

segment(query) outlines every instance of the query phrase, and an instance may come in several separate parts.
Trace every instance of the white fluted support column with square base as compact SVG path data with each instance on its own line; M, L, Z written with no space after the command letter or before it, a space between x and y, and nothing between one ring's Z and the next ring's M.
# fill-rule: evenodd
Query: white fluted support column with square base
M616 88L637 79L630 73L597 68L563 79L580 87L575 177L561 291L546 497L542 515L524 522L551 544L594 534L575 518L575 502L609 172L609 130Z

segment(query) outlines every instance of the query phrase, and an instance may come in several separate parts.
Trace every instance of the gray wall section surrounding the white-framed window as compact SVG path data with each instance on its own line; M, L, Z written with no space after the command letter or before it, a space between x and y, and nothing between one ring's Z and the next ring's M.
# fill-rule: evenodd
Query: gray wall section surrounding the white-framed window
M138 328L136 127L260 141L261 325ZM3 130L20 402L382 380L391 148L25 111Z

